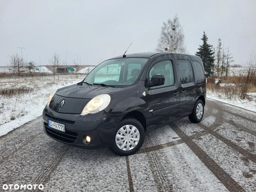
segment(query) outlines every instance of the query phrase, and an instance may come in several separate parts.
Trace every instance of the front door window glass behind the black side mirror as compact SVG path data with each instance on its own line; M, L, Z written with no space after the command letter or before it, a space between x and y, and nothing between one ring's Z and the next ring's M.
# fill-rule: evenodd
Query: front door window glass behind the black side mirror
M152 78L152 76L156 74L161 74L164 76L164 84L160 86L154 86L152 88L159 88L163 86L170 86L174 84L174 75L173 75L173 66L172 61L166 60L166 61L160 61L159 63L156 63L153 65L152 68L149 70L148 77L149 79Z

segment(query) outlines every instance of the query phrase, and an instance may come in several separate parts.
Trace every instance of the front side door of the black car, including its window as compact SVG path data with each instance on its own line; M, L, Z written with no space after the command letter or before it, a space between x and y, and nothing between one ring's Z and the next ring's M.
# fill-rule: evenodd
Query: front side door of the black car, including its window
M147 71L147 79L151 79L154 74L164 76L164 84L160 86L148 87L146 101L149 106L150 116L149 126L158 127L176 118L179 108L179 92L177 74L172 60L160 60L150 65Z

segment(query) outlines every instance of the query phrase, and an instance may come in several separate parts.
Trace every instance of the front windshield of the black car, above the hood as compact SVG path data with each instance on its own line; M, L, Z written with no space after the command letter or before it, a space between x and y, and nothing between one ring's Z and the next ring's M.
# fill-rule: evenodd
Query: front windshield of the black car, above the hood
M83 82L101 86L129 86L138 79L147 61L147 58L107 60L95 67Z

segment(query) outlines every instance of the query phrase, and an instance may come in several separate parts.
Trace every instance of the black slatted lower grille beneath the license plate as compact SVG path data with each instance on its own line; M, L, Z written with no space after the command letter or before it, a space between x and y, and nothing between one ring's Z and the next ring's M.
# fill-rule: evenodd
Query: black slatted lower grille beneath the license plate
M63 141L65 143L74 143L74 141L76 141L77 132L67 130L65 132L55 131L54 129L48 127L47 123L45 122L44 126L47 134L49 134L49 136L55 138L56 140Z

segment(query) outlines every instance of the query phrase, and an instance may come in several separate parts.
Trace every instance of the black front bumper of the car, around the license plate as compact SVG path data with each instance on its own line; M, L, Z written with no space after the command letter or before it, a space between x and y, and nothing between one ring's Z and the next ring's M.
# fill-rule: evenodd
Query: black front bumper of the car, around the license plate
M56 113L45 107L43 111L44 132L54 140L68 145L82 148L99 148L111 145L115 138L118 120L111 118L105 111L85 116L75 114ZM65 132L48 126L48 120L65 125ZM85 143L86 136L90 136L90 143Z

